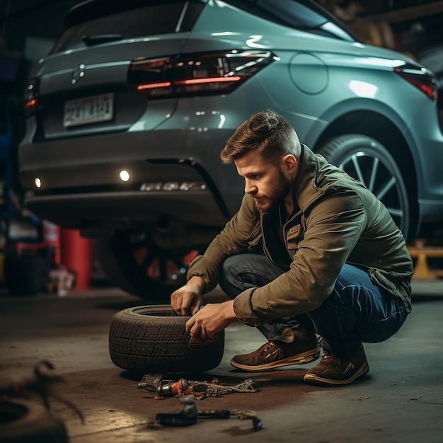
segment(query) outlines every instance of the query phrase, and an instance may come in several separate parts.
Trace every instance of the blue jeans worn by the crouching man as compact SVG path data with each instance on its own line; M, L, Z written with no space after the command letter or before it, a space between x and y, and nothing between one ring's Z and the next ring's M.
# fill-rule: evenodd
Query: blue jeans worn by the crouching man
M224 262L220 287L234 299L245 289L264 286L283 272L264 255L233 255ZM403 301L374 284L366 271L344 265L333 292L320 307L263 323L258 329L267 340L282 341L287 341L287 328L311 330L320 335L324 349L349 357L362 342L379 343L391 337L407 315Z

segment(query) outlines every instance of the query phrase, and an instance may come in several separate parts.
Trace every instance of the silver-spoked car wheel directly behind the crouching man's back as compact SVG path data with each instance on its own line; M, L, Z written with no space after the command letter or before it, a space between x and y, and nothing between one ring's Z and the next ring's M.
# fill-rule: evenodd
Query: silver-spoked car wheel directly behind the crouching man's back
M331 139L318 153L364 183L408 238L410 207L405 181L393 156L381 143L365 135L349 134Z

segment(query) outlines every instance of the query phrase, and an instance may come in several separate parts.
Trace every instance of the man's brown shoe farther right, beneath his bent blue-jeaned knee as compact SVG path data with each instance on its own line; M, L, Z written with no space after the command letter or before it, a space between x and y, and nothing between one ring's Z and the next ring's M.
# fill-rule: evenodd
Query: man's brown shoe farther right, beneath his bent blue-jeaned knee
M350 384L369 372L369 364L363 347L351 357L338 357L332 352L323 350L323 357L316 366L308 369L304 381L309 384L340 385Z

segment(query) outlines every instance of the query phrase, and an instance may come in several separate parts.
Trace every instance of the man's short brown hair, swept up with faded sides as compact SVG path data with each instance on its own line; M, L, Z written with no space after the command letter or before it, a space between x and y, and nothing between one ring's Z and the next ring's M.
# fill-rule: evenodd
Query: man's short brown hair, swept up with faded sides
M287 154L299 159L301 146L297 133L284 117L264 110L238 127L220 152L220 159L223 163L233 163L251 150L277 163Z

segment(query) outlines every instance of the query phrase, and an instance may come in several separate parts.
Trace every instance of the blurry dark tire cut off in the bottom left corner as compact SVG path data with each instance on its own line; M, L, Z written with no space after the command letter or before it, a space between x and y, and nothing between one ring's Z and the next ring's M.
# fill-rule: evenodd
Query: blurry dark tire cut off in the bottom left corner
M38 403L0 401L0 443L65 443L64 422Z

